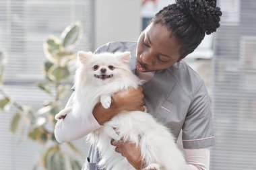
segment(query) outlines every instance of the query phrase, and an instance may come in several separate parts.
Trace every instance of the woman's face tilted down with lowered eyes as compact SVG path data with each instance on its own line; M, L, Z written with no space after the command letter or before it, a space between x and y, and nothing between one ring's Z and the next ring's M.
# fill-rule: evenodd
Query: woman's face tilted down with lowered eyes
M137 41L137 71L166 69L180 58L180 45L162 24L151 23Z

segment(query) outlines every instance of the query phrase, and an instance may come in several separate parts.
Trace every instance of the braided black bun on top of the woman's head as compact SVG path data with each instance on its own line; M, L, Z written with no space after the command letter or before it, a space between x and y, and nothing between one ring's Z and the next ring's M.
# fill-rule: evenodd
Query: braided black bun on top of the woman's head
M220 27L220 7L216 7L216 0L176 0L177 6L190 15L206 34L216 32Z

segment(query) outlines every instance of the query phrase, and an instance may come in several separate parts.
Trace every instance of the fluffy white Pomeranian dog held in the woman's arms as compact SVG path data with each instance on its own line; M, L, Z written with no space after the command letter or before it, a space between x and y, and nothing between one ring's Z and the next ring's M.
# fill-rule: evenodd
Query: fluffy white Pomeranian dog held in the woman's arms
M75 72L75 95L73 107L62 110L55 116L58 120L71 110L92 114L97 103L104 108L111 105L111 96L123 89L136 89L140 82L129 68L130 52L100 53L80 51L77 54L79 67ZM114 130L115 129L115 130ZM111 139L133 142L140 147L143 169L183 170L185 159L174 142L171 132L150 114L126 111L117 114L98 130L88 134L87 140L98 148L98 167L106 170L134 170L127 159L115 152Z

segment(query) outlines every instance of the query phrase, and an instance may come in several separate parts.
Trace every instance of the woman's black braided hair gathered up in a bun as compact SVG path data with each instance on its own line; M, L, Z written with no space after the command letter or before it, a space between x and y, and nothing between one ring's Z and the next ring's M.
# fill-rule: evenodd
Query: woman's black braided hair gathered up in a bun
M221 15L216 0L176 0L156 13L152 22L163 24L171 31L170 36L177 38L181 60L197 48L205 34L216 32Z

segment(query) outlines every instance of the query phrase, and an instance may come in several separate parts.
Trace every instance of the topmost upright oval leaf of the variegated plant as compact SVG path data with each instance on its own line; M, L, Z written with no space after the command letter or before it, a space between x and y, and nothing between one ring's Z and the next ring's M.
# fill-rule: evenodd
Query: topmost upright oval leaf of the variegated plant
M63 47L67 50L72 50L79 43L82 38L82 24L81 22L74 22L67 26L61 34Z

